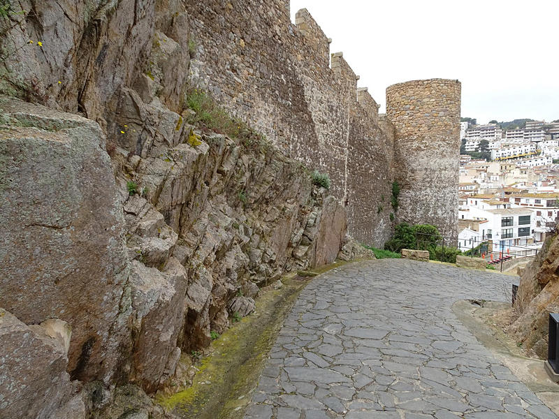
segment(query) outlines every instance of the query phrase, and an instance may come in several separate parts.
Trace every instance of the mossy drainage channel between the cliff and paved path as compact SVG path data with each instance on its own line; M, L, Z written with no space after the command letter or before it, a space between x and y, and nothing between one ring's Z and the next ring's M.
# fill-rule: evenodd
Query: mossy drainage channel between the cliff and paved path
M344 263L333 263L325 272ZM292 275L282 288L265 290L254 314L243 318L212 342L212 354L201 360L193 384L175 395L159 397L166 410L182 419L242 418L284 318L310 277Z

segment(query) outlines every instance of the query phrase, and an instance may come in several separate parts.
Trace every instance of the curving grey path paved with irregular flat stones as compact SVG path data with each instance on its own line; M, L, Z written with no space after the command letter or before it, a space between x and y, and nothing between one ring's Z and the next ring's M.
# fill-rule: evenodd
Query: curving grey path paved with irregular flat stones
M512 277L410 260L314 279L279 332L245 419L556 418L454 316Z

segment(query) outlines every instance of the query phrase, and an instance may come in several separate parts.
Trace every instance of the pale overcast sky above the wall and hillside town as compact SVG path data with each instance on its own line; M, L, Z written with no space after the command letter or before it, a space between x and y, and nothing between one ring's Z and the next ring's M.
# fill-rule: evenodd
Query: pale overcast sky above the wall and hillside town
M291 0L307 8L358 87L382 105L391 84L462 82L462 116L559 119L559 0Z

